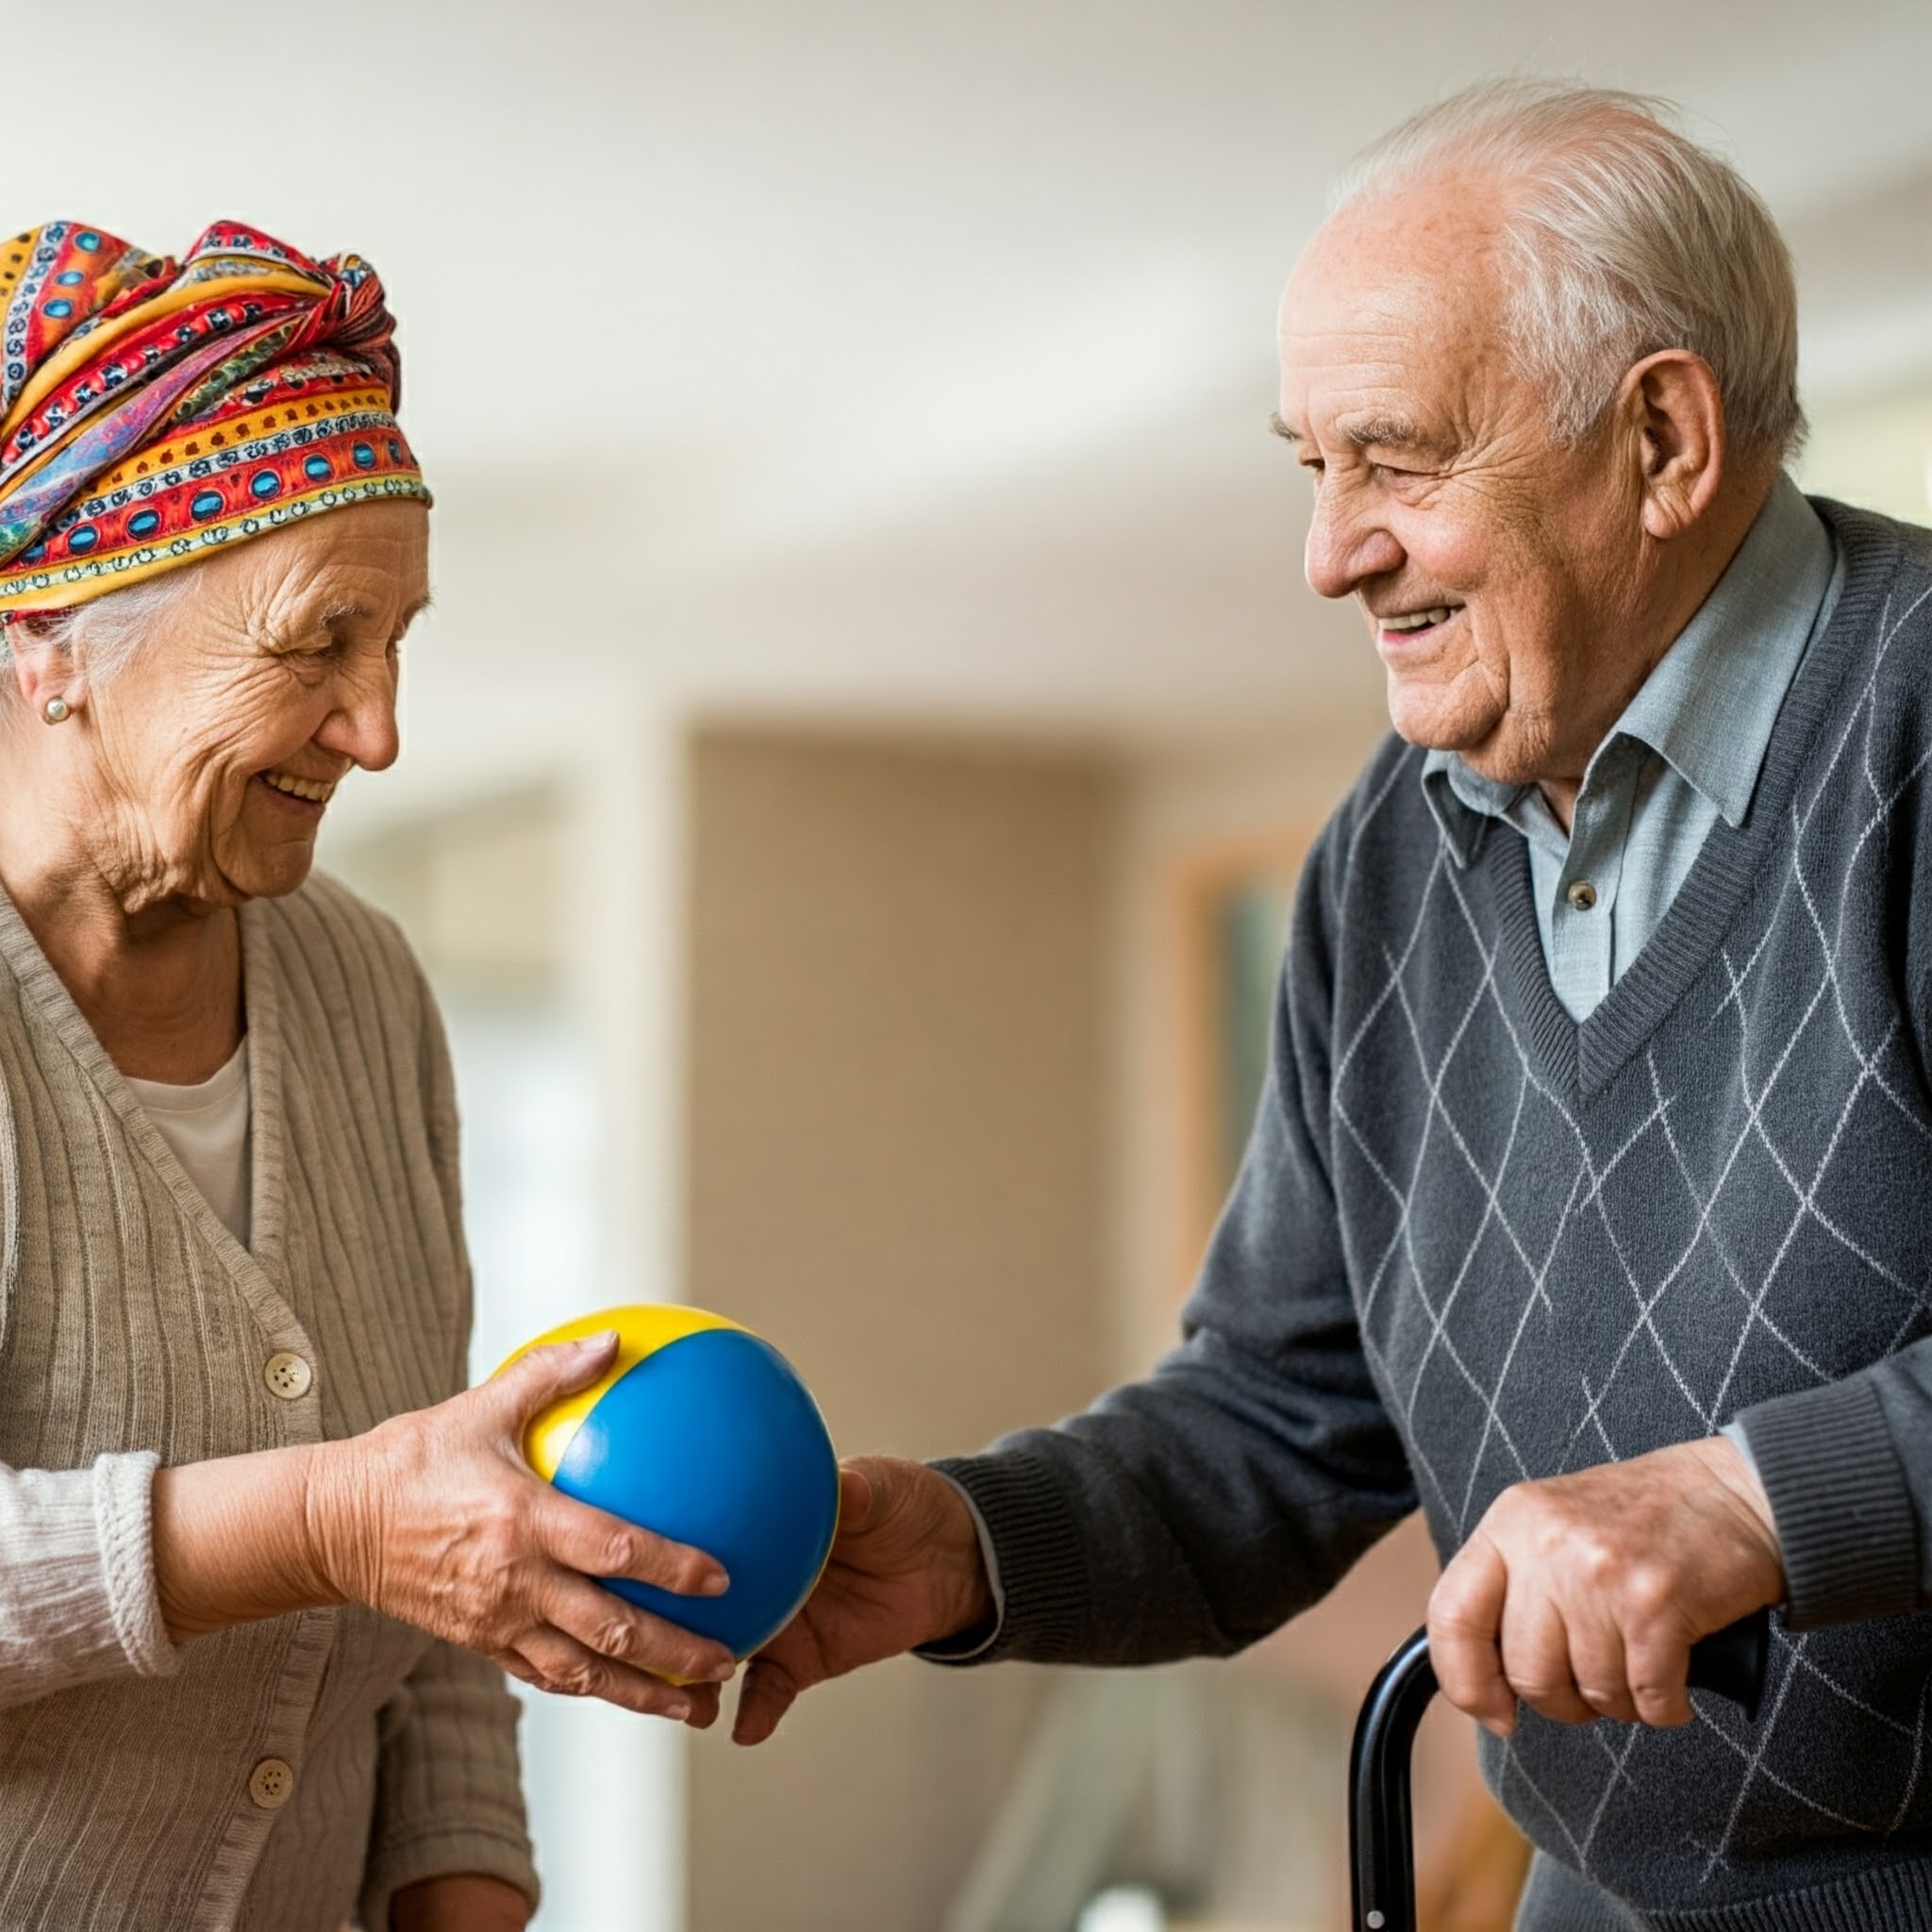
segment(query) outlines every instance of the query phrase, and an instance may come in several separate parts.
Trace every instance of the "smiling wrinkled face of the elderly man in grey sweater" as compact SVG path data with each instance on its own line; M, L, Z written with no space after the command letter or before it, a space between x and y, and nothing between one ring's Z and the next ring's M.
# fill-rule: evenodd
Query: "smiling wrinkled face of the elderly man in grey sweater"
M1629 697L1640 471L1551 440L1501 334L1493 182L1343 209L1281 305L1281 423L1316 485L1308 582L1356 597L1412 744L1582 771Z

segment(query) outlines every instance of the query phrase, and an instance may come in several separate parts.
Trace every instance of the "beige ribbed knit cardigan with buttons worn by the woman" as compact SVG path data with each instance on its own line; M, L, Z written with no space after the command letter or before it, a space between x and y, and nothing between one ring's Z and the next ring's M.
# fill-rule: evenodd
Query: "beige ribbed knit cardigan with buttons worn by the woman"
M398 1886L535 1895L516 1706L367 1609L174 1646L160 1463L354 1435L464 1385L450 1065L396 929L242 910L251 1248L0 895L0 1928L388 1932ZM298 1356L309 1374L274 1356ZM286 1393L305 1385L303 1393Z

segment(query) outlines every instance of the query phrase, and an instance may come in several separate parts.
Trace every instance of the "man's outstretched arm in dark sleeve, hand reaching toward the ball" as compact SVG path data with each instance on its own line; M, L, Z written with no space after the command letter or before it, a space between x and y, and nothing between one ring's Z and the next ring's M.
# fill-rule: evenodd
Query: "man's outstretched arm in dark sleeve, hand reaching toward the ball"
M798 1690L902 1650L974 1663L1227 1656L1323 1596L1414 1509L1327 1171L1327 869L1318 848L1254 1136L1180 1347L1088 1410L980 1455L854 1464L864 1482L848 1478L825 1580L748 1673L742 1743L767 1737ZM962 1633L974 1640L949 1642Z

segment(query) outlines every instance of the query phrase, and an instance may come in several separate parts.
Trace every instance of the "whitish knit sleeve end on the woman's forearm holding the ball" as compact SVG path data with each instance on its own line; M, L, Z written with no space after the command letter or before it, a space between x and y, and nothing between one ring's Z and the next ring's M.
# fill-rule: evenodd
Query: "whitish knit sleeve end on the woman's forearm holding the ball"
M0 1706L176 1669L155 1594L156 1461L0 1468Z

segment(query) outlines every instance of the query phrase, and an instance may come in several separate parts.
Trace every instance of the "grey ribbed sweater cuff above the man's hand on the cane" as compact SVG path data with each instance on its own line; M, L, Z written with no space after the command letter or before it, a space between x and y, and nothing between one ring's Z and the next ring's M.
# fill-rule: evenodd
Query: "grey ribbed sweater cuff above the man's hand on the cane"
M1739 1418L1772 1501L1785 1623L1812 1631L1918 1607L1918 1522L1878 1389L1864 1376Z

